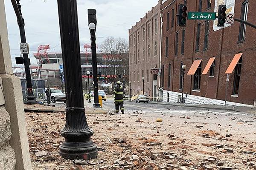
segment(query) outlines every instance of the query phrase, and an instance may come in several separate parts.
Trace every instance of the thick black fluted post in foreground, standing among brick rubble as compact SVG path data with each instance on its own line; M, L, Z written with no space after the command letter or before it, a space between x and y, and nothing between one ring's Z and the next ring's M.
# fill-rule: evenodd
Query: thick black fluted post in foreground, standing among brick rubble
M66 125L61 130L65 141L60 155L64 159L95 159L97 146L90 140L93 130L87 124L81 74L79 26L76 0L58 0L62 59L66 90Z

